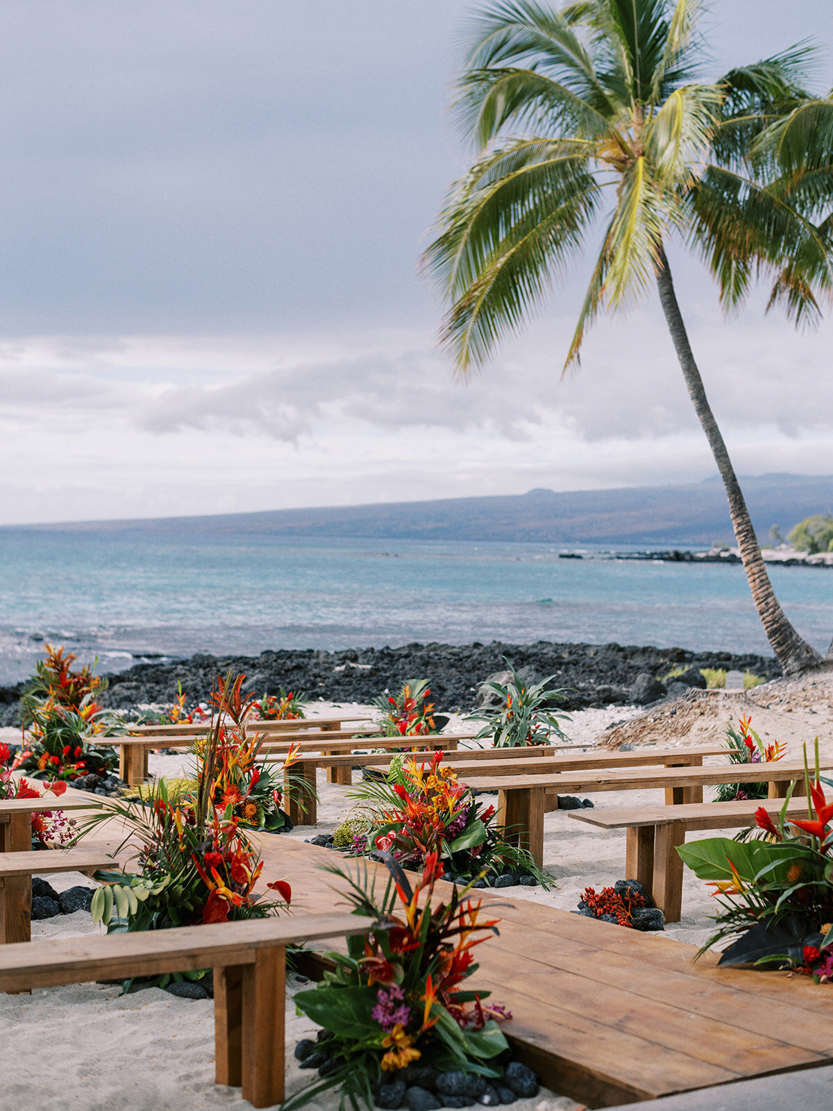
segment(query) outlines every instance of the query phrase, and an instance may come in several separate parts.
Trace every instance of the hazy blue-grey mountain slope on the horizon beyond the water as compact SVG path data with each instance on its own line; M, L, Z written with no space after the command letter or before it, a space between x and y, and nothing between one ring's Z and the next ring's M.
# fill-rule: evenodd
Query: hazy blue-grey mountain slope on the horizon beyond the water
M741 480L759 539L771 526L786 532L805 517L830 512L833 476L763 474ZM258 513L149 520L7 526L37 531L167 534L251 533L275 539L538 541L560 546L685 546L731 541L732 526L719 479L688 486L631 487L555 493L449 498L281 509Z

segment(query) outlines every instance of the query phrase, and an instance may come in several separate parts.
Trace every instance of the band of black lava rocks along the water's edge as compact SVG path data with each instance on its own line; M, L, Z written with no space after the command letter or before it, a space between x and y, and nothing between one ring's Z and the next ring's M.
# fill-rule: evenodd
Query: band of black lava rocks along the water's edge
M313 699L333 702L371 702L402 682L425 678L431 700L439 712L474 709L478 687L484 679L505 669L504 657L524 677L540 680L555 677L555 685L566 690L564 705L571 710L590 707L648 703L679 691L661 689L658 682L672 669L692 672L700 668L752 671L762 679L775 679L781 669L772 657L753 653L693 652L682 648L622 644L571 644L539 641L534 644L407 644L402 648L348 649L342 652L268 651L257 657L213 657L198 653L190 659L139 663L110 674L102 702L120 710L170 704L181 683L188 705L204 701L214 678L229 669L244 672L245 690L258 694L285 690L304 691ZM673 680L672 680L673 682ZM666 684L666 688L670 684ZM679 683L678 683L679 685ZM22 684L0 688L0 722L17 724Z

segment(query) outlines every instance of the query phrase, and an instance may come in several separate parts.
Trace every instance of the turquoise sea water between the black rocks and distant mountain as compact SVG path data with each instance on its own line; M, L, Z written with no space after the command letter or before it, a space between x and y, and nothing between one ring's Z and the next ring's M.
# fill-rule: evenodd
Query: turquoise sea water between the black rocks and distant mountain
M773 568L816 648L833 570ZM43 639L104 670L145 653L255 654L411 641L591 641L769 654L737 565L562 560L545 544L0 532L0 682Z

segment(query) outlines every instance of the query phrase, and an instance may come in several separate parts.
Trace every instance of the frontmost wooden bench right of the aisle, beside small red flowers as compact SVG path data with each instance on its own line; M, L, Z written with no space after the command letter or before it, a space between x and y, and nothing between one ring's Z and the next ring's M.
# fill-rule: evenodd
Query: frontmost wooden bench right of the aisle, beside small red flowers
M569 817L604 830L626 831L625 879L639 880L666 922L682 913L683 862L676 851L689 830L744 829L755 824L763 807L775 815L780 799L742 799L739 802L701 802L682 807L640 807L632 810L572 810ZM791 799L790 818L806 818L806 799Z

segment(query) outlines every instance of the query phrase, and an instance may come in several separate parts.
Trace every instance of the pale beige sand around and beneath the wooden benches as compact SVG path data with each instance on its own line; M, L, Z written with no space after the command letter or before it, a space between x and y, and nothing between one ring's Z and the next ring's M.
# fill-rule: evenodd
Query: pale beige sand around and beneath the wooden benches
M319 714L355 705L315 704ZM751 713L753 727L767 741L787 742L787 754L800 758L801 744L817 734L822 751L833 754L833 675L796 682L779 680L742 695L701 695L681 700L644 714L635 708L610 707L573 714L565 723L571 741L593 745L662 739L681 745L713 740L729 720ZM612 723L625 722L615 730ZM454 730L463 723L452 721ZM153 774L179 775L182 755L151 755ZM354 803L349 788L329 784L319 773L319 825L300 827L292 838L328 832L343 821ZM661 804L660 791L604 792L589 795L596 807ZM570 812L548 814L544 824L544 867L558 883L552 891L513 888L512 898L573 910L588 885L601 887L620 879L624 868L623 832L606 832L570 818ZM733 835L735 831L730 831ZM704 833L704 837L715 835ZM51 880L59 890L90 882L79 875ZM706 888L686 873L683 919L670 925L666 937L695 944L711 933L713 905ZM96 932L88 914L78 912L32 923L33 939ZM291 990L304 987L293 981ZM294 1042L311 1032L308 1020L288 1005L289 1092L308 1074L291 1058ZM36 991L31 995L0 993L0 1111L199 1111L203 1108L243 1109L238 1089L213 1083L212 1003L177 999L159 989L119 995L118 989L96 984ZM333 1097L313 1104L315 1111L334 1111ZM518 1111L571 1111L579 1104L542 1090L534 1100L519 1100Z

